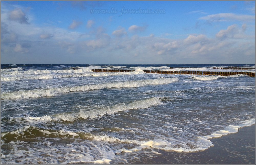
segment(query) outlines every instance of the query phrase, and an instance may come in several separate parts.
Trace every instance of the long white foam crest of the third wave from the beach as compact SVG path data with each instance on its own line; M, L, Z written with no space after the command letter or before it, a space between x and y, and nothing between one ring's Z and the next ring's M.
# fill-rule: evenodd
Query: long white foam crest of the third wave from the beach
M47 88L47 89L34 89L22 90L14 92L2 92L1 99L24 99L24 98L37 98L45 96L56 96L62 93L69 93L74 91L88 91L97 90L102 88L125 88L125 87L141 87L146 85L163 85L178 81L178 78L163 78L163 79L149 79L138 81L125 81L125 82L111 82L105 84L84 85L76 87L60 87L60 88Z

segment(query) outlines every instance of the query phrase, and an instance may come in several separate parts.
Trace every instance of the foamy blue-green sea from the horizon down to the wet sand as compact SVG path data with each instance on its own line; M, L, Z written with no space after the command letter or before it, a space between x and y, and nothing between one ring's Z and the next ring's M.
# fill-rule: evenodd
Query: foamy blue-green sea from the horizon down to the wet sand
M1 163L133 163L213 147L213 137L255 124L255 77L142 70L214 66L255 67L1 65Z

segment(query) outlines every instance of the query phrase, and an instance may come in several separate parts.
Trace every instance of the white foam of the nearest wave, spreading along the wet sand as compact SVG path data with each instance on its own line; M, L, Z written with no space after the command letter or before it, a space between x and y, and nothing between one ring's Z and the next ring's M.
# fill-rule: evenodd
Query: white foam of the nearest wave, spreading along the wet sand
M26 126L26 127L20 128L16 131L13 131L12 134L24 135L25 134L24 132L27 131L28 128L31 128L31 129L36 129L36 130L42 132L43 134L52 134L52 135L56 135L58 137L59 136L67 137L66 135L68 135L68 137L73 138L73 139L79 139L79 138L84 139L83 136L85 136L86 141L79 140L79 142L76 141L74 143L67 144L65 146L61 146L61 145L53 146L51 143L47 142L48 144L45 143L45 145L44 145L47 147L43 147L42 149L39 148L35 152L31 152L31 153L35 153L36 155L38 155L38 153L44 153L44 151L47 149L47 153L52 153L53 156L56 156L56 153L58 153L57 156L60 156L61 153L59 153L59 151L65 150L65 154L61 155L61 156L66 158L68 155L68 158L71 158L71 159L65 159L65 163L75 163L75 162L110 163L110 161L112 159L114 159L114 157L116 157L116 154L120 154L121 152L125 152L125 153L129 154L131 152L136 152L136 151L142 150L143 148L157 148L157 149L161 149L161 150L173 150L176 152L195 152L195 151L199 151L199 150L205 150L211 146L214 146L213 143L209 139L211 139L213 137L219 137L219 136L222 136L222 135L225 135L228 133L235 133L238 131L239 128L244 127L244 126L250 126L252 124L255 124L255 118L242 121L239 125L236 125L236 126L233 126L233 125L227 126L224 130L216 131L208 136L198 136L196 141L188 142L190 145L194 146L193 148L186 146L187 142L183 142L183 141L177 140L177 139L175 140L173 138L169 138L169 140L153 139L153 140L139 141L139 140L119 139L116 137L110 137L108 135L93 135L90 133L84 134L83 132L72 132L72 131L67 131L64 129L58 130L58 131L41 130L40 128L35 127L35 126ZM10 132L8 132L8 133L10 133ZM2 133L1 136L4 136L5 134L7 134L7 133ZM90 140L87 140L87 139L90 139ZM97 141L97 142L95 142L95 141ZM103 142L103 141L105 141L105 142ZM106 142L109 142L109 143L106 143ZM115 150L114 150L111 147L106 145L106 144L117 143L118 146L122 146L119 142L132 143L133 145L138 145L138 146L134 147L134 148L126 148L126 147L125 148L117 148L117 149L115 148ZM182 147L175 147L175 144L177 144L177 142L179 142L180 145L182 145ZM12 141L10 143L17 144L20 142ZM85 145L85 143L86 143L86 145ZM78 144L80 144L80 145L78 145ZM104 144L104 146L102 146L102 144ZM41 144L39 144L39 145L41 145ZM18 147L18 146L19 145L14 145L14 147ZM32 147L32 149L33 149L33 147ZM17 150L17 151L18 151L18 153L16 153L16 154L18 154L18 155L19 154L22 155L24 153L24 150ZM80 153L79 151L84 152L84 154L86 154L86 155ZM14 155L14 156L17 157L17 155ZM13 158L13 155L2 155L3 159L6 157ZM26 158L29 159L29 157L26 157ZM56 157L54 157L51 160L47 160L47 162L48 163L52 162L53 160L55 160L55 158ZM6 161L6 160L3 160L3 161ZM38 160L33 161L32 159L29 159L29 162L31 162L31 163L37 162L37 161ZM8 161L8 162L10 163L12 161Z

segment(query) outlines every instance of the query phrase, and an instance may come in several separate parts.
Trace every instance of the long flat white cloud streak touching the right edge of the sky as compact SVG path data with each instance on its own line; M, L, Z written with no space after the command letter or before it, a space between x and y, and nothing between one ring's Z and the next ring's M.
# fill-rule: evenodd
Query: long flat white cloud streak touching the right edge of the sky
M242 15L242 14L234 14L234 13L219 13L212 14L205 17L200 17L200 20L207 20L210 22L216 21L253 21L255 20L254 16L251 15Z

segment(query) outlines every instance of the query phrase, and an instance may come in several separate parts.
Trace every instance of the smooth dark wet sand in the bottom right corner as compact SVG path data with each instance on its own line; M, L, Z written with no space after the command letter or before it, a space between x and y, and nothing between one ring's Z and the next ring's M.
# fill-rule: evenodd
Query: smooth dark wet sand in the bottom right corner
M255 125L237 133L211 139L214 146L199 152L159 150L154 158L140 158L132 164L255 164Z

